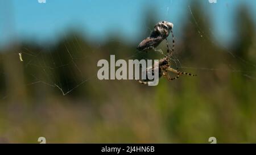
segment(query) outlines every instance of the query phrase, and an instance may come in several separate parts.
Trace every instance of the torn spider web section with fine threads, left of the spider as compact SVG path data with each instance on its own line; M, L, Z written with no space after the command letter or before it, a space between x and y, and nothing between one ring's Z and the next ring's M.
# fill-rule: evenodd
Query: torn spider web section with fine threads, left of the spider
M76 36L74 36L75 38L77 38ZM67 36L65 35L65 40L67 40ZM108 42L118 42L116 40L110 40ZM82 48L81 48L81 45L80 43L76 40L76 43L72 43L72 45L70 43L64 43L64 46L65 46L65 50L64 51L61 51L61 54L65 54L65 55L68 55L69 56L69 64L64 64L62 61L61 61L61 56L59 55L58 53L58 58L59 58L59 62L60 64L59 65L56 65L56 60L48 60L50 62L46 62L46 60L44 60L44 55L46 53L43 53L42 51L40 51L37 55L33 55L31 54L31 51L27 48L26 51L27 52L22 52L23 55L27 55L27 56L32 56L34 58L30 59L28 62L25 62L26 64L24 65L25 68L28 68L28 67L35 67L35 68L38 68L38 69L41 69L43 74L44 74L44 79L40 79L38 77L36 77L34 74L30 73L30 76L34 78L34 82L31 82L31 83L27 83L26 85L27 86L31 86L31 85L36 85L38 83L43 83L47 86L51 86L51 87L55 87L56 89L58 89L62 95L67 95L69 93L71 93L73 90L77 89L77 87L80 87L81 85L84 85L85 82L88 82L92 79L96 79L97 78L97 72L93 72L90 76L84 76L84 73L82 72L82 70L80 69L80 66L77 64L77 60L88 60L90 57L88 56L85 56L88 55L88 53L84 53L84 52L81 52L81 53L84 53L84 56L82 58L77 58L75 55L75 51L77 51L79 48L79 50L82 51ZM71 49L69 49L71 46L73 46L76 50L75 51L71 51ZM101 46L98 46L98 48L100 48ZM49 55L51 55L52 57L52 51L49 51ZM64 52L64 53L63 53ZM94 51L92 51L91 53L94 53ZM140 51L137 51L135 50L134 51L134 54L133 55L130 55L126 58L124 58L125 60L129 59L129 58L134 58L136 57L139 53L141 53ZM40 62L40 61L43 61L43 62ZM48 65L48 64L53 64L53 66L51 65ZM93 64L96 66L96 64ZM69 68L70 66L73 66L74 69L71 69ZM72 74L72 77L75 79L75 86L71 87L69 86L69 83L71 81L69 81L69 79L67 79L67 77L64 77L65 78L65 81L64 82L60 82L58 81L58 78L55 76L55 73L54 70L55 69L64 69L65 71L64 72L71 72ZM67 87L66 90L64 90L63 87Z

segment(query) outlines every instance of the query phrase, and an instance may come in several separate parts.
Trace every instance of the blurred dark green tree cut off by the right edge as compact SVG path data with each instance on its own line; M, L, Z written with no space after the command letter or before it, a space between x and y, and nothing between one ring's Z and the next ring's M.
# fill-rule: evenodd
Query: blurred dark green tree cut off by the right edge
M251 102L253 98L250 94L250 87L253 87L253 85L251 84L251 78L248 77L255 76L256 66L251 62L253 58L249 57L249 51L255 43L255 25L249 9L245 5L238 7L235 19L237 37L233 45L233 51L236 58L233 60L236 61L237 68L241 72L239 73L240 76L233 75L231 85L232 91L236 95L238 103L240 103L241 110L247 115L250 114L250 107L254 104Z

